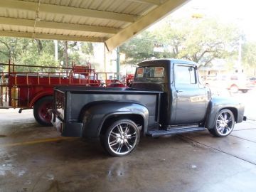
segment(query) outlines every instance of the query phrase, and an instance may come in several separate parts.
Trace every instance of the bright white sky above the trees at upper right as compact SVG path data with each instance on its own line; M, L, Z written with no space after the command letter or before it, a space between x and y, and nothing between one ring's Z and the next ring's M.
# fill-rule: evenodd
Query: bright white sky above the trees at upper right
M256 0L191 0L171 16L201 14L236 23L248 41L256 41Z

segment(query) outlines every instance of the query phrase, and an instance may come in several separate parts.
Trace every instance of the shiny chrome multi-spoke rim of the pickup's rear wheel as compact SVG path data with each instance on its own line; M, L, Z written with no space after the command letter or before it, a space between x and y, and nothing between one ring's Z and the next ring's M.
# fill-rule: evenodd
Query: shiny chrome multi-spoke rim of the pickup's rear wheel
M114 154L124 155L134 149L138 137L137 127L129 123L120 123L111 129L107 144Z

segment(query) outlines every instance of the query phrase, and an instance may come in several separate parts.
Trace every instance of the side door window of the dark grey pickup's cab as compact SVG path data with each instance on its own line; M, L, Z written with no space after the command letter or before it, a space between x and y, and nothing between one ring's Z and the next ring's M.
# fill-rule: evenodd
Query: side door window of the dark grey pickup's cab
M175 82L177 84L196 84L196 70L190 66L176 65Z

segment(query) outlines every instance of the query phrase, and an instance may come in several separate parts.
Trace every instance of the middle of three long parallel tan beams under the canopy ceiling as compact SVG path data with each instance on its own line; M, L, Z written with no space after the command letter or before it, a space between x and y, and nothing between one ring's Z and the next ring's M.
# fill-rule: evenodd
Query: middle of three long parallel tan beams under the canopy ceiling
M0 17L0 24L11 25L11 26L34 27L35 21L31 19L23 19L23 18ZM110 33L110 34L115 34L119 31L119 28L88 26L88 25L79 25L79 24L70 24L70 23L58 23L58 22L50 22L50 21L36 21L36 28L63 29L63 30L70 30L70 31L89 31L89 32Z

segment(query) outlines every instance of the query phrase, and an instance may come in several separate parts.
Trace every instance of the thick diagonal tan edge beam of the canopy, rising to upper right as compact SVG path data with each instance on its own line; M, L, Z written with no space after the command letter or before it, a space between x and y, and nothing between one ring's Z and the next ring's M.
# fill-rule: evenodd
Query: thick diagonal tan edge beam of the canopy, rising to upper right
M132 38L132 36L148 28L153 23L156 23L156 21L159 21L159 19L163 18L167 14L170 14L172 11L174 11L179 6L182 6L188 1L190 0L168 0L164 2L164 4L161 4L160 6L156 7L156 9L149 12L149 14L147 14L146 16L140 18L138 21L127 26L127 28L124 28L121 31L119 31L119 33L117 33L116 35L107 39L107 41L105 41L107 50L110 51L116 48L117 46L122 45L122 43L129 40L129 38Z

